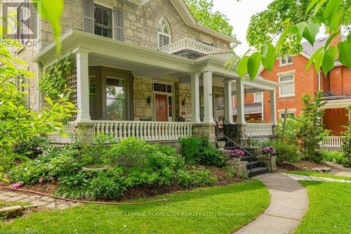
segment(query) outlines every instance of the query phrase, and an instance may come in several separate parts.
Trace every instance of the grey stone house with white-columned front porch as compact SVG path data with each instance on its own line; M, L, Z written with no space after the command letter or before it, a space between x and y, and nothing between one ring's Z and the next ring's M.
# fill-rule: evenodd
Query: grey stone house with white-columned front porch
M38 25L38 46L15 51L37 74L29 87L34 110L44 100L40 74L58 60L51 25ZM168 141L194 133L213 141L215 121L232 115L232 95L239 97L239 124L244 90L268 91L274 100L276 82L250 82L224 68L239 41L197 23L183 0L65 0L61 26L60 56L74 58L69 87L80 110L74 124L94 134ZM272 119L265 135L274 133Z

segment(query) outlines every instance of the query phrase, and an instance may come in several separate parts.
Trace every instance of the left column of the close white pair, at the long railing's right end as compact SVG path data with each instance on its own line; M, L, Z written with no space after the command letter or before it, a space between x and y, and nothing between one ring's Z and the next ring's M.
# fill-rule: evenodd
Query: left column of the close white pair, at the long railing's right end
M200 73L191 74L191 89L192 89L192 122L199 124L200 121Z

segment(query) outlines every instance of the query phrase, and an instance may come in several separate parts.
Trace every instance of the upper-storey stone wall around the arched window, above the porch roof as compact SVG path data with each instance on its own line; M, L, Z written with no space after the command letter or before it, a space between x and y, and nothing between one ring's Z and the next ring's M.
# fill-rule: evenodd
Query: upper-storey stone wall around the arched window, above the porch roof
M171 41L189 38L212 42L218 48L229 49L230 43L213 37L185 25L179 13L169 0L151 0L138 6L126 0L100 0L101 4L121 8L124 11L124 41L143 46L157 48L157 25L165 17L171 25ZM65 10L61 19L62 33L74 28L83 30L82 1L65 0ZM41 46L44 48L53 41L53 32L48 22L41 22Z

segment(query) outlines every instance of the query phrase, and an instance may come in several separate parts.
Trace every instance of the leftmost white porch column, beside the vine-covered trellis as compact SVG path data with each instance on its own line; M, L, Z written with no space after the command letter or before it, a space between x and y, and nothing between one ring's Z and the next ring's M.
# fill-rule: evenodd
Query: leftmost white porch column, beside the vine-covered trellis
M88 53L89 51L77 49L73 51L77 61L77 122L90 122L89 114L89 74Z

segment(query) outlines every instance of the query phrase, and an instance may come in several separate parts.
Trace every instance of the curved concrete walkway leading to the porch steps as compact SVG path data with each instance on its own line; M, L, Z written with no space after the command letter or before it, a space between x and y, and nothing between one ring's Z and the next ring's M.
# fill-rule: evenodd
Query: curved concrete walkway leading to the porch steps
M240 228L235 234L292 233L308 207L307 191L284 174L256 176L270 190L270 205L257 219Z

